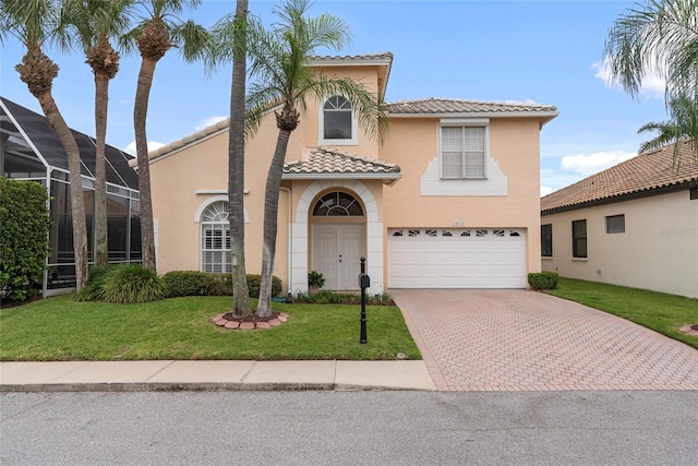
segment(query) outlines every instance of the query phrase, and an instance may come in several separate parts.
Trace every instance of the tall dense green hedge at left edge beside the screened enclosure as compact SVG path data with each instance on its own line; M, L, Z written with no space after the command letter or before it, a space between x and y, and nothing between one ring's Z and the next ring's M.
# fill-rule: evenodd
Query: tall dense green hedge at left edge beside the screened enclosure
M0 296L24 301L40 289L51 220L48 194L34 181L0 177Z

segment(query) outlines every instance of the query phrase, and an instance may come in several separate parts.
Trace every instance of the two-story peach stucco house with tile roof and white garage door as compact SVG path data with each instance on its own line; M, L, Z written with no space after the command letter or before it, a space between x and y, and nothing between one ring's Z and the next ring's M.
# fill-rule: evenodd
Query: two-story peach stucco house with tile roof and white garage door
M328 74L385 95L392 53L318 57ZM555 107L450 99L389 104L381 144L351 103L309 101L292 133L279 199L275 275L285 290L525 288L540 271L540 131ZM278 130L245 143L246 270L262 264L264 189ZM228 122L149 154L158 272L230 270Z

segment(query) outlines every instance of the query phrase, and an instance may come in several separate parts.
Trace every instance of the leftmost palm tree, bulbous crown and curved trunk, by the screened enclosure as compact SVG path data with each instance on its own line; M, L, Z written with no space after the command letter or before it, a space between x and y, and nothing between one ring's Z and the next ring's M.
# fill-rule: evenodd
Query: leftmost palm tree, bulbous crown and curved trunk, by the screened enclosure
M87 278L87 226L80 150L51 93L59 67L41 49L47 40L56 37L58 17L59 4L55 0L2 0L0 3L0 37L12 34L26 47L26 55L15 70L39 101L46 120L56 131L68 157L75 286L80 291Z

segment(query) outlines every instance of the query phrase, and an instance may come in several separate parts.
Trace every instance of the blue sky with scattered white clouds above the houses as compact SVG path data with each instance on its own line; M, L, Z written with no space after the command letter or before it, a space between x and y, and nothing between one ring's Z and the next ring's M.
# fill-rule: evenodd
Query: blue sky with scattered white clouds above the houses
M266 23L277 2L250 1ZM564 188L637 154L637 129L666 117L661 80L648 80L639 99L609 85L603 45L628 1L316 1L353 40L340 55L392 51L387 100L443 97L554 105L561 115L541 132L541 193ZM234 10L234 0L205 0L184 17L205 26ZM324 51L323 51L324 53ZM21 46L7 40L0 94L40 112L19 79ZM94 134L94 82L84 58L48 50L61 70L53 95L69 126ZM133 99L140 57L122 58L110 87L109 144L132 146ZM207 76L172 50L158 63L147 134L154 145L182 139L225 118L230 69Z

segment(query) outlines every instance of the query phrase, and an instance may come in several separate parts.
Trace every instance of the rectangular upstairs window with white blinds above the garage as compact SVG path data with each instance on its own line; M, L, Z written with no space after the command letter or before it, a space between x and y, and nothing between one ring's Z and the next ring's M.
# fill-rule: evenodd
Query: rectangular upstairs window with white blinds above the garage
M485 128L442 127L442 178L484 178Z

